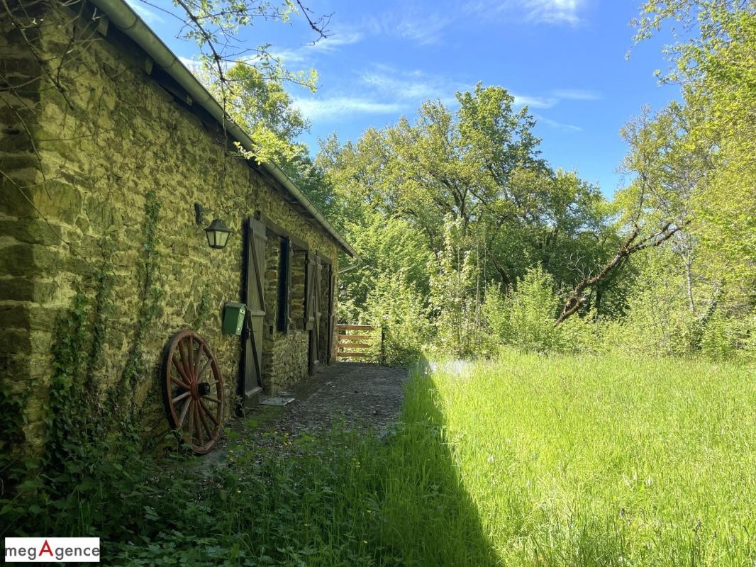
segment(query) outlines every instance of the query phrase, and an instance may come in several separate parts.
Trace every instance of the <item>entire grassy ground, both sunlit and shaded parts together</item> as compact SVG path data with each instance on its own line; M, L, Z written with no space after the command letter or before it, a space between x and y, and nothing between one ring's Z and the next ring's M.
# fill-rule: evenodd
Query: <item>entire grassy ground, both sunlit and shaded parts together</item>
M244 444L276 435L250 420L217 466L90 463L75 496L9 505L5 535L100 535L108 565L753 567L752 369L518 354L446 368L408 383L391 435L337 427L282 458Z

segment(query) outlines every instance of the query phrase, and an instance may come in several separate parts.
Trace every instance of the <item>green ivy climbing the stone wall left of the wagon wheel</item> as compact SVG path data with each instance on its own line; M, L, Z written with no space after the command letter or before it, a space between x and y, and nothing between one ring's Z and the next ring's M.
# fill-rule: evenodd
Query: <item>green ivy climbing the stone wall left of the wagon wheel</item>
M139 307L125 366L116 384L101 392L95 375L103 366L109 335L109 314L113 309L113 265L107 258L115 243L103 243L104 261L87 283L94 294L79 290L70 310L58 321L52 347L53 376L45 420L43 464L62 473L52 476L67 483L76 478L78 465L91 463L91 451L102 451L110 442L138 439L135 427L135 393L150 365L145 361L147 330L160 316L160 253L157 222L160 203L150 191L144 203L142 246L138 260ZM153 380L153 387L156 381Z

